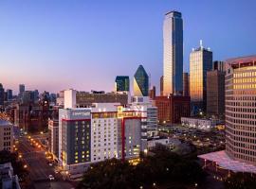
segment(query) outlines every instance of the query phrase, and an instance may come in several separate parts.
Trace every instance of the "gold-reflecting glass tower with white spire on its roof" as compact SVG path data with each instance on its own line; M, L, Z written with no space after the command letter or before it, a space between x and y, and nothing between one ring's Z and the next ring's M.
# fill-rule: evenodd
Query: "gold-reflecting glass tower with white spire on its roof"
M190 94L192 114L206 111L207 72L212 68L212 52L203 47L192 49L190 54Z

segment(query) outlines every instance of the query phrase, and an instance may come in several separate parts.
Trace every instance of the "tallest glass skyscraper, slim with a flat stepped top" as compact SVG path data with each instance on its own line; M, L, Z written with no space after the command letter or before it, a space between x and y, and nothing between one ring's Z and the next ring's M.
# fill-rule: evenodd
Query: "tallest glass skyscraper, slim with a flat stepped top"
M183 21L181 13L165 14L163 24L163 94L182 94Z

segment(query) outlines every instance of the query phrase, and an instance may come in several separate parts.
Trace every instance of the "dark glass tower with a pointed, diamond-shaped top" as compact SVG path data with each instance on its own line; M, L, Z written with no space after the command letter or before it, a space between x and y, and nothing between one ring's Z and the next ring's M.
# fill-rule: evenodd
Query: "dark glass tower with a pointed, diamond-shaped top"
M139 65L134 76L134 95L149 95L149 76L142 65Z

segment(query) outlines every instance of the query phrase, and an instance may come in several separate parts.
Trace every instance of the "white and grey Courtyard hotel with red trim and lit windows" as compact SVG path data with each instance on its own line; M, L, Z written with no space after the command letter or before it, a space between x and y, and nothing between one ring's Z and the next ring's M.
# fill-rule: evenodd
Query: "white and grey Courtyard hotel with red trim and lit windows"
M72 95L65 98L69 102L59 112L59 163L64 170L79 175L90 163L138 158L147 148L148 128L156 130L156 109L140 98L125 107L95 103L91 108L76 108Z

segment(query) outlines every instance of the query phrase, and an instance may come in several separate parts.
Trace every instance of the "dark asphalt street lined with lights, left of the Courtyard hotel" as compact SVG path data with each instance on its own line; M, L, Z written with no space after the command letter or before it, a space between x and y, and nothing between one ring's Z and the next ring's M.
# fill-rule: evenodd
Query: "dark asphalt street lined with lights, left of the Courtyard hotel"
M22 154L24 162L29 170L30 180L36 189L46 188L74 188L68 181L64 181L60 174L55 174L54 167L48 164L45 151L37 146L31 146L27 137L19 138L18 151ZM48 176L53 175L55 180L49 180Z

